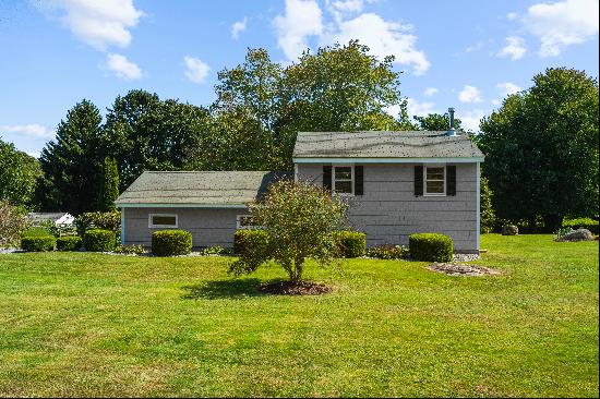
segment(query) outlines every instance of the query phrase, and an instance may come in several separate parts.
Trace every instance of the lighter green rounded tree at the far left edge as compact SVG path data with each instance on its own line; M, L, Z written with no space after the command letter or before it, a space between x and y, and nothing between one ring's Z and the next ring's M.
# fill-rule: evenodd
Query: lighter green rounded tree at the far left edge
M0 201L31 205L36 180L41 176L39 161L0 140Z

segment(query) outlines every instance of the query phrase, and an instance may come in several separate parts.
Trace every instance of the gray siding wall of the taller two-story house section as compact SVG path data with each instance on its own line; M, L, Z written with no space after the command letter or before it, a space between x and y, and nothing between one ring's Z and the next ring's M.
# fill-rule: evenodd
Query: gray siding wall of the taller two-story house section
M323 184L323 165L298 164L297 177ZM369 246L408 245L408 235L449 235L457 252L477 247L477 164L456 165L455 196L415 196L415 165L363 165L364 195L350 198L349 225Z

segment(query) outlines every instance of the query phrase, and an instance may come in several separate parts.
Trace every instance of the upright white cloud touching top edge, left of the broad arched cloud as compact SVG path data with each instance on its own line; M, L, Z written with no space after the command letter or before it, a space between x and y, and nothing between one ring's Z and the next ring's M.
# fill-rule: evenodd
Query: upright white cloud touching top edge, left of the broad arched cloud
M314 0L286 0L286 14L277 15L274 25L278 46L296 60L309 47L307 38L323 32L323 15Z

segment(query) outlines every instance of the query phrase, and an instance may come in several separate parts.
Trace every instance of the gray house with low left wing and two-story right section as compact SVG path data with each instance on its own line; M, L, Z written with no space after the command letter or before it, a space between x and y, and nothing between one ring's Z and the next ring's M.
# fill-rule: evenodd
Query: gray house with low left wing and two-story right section
M367 234L369 246L406 245L411 233L439 232L453 239L456 252L479 253L482 161L472 141L454 130L300 132L293 179L347 196L348 222ZM153 231L178 228L192 232L195 247L231 246L235 231L250 227L247 204L285 177L144 172L116 202L121 241L147 246Z

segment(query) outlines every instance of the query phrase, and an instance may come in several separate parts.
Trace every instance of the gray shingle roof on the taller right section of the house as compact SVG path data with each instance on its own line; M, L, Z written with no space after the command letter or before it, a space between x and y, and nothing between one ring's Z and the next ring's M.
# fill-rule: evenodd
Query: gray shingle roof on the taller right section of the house
M445 131L300 132L293 158L472 158L481 150L464 133Z

